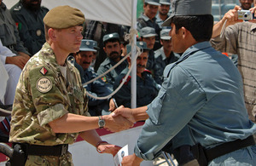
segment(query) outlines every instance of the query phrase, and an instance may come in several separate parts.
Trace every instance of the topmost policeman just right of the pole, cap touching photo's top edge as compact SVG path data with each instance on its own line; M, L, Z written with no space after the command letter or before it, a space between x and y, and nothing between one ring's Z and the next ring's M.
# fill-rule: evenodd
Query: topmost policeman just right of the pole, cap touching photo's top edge
M160 26L156 22L155 15L157 14L159 0L145 0L143 4L144 13L137 18L137 31L141 31L143 27L149 26L154 28L158 35L155 39L154 50L160 49Z

